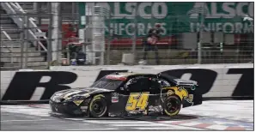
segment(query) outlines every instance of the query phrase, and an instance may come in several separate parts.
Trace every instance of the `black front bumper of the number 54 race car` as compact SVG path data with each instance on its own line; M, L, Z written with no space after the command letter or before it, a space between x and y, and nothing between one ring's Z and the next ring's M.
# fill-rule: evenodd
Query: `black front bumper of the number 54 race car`
M52 116L83 116L86 115L87 110L81 109L81 106L74 104L73 102L49 102Z

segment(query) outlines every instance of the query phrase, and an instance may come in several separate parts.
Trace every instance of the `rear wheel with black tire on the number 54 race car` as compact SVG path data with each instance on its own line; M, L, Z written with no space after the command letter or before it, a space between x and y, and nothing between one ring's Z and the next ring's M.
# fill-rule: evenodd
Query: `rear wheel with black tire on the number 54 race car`
M173 117L178 115L181 109L181 100L177 96L168 96L163 103L163 113Z

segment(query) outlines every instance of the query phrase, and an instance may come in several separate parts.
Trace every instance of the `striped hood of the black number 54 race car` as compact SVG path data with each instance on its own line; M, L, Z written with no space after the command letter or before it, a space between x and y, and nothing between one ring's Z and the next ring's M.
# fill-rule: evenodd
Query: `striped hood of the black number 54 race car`
M67 90L58 91L52 95L52 100L56 99L72 99L73 97L84 97L88 98L90 95L95 93L108 93L113 92L113 90L97 88L97 87L82 87L82 88L72 88Z

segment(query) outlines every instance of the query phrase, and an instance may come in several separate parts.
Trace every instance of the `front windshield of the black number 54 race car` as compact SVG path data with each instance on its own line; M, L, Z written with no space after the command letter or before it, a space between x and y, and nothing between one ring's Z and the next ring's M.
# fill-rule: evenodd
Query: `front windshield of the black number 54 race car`
M124 81L119 79L108 79L107 77L103 77L101 78L101 80L95 81L94 84L90 87L115 90L117 87L121 85L122 82Z

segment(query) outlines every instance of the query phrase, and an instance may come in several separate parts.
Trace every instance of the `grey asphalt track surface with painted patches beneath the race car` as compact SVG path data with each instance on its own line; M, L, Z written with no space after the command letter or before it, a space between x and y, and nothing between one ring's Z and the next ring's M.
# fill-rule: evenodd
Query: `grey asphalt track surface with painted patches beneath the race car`
M253 100L204 101L176 117L50 117L49 105L1 105L1 130L253 130Z

